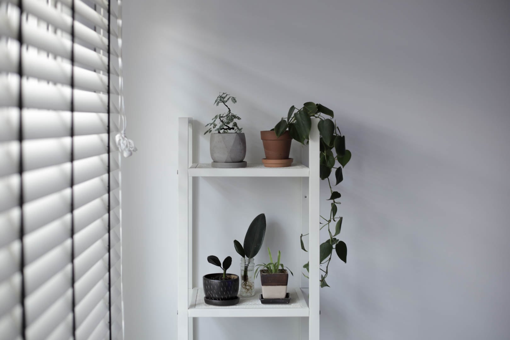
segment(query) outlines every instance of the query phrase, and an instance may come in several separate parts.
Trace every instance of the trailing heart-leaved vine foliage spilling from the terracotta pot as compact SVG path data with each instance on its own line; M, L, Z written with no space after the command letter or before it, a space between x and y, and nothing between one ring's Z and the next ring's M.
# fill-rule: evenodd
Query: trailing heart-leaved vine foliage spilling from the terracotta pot
M308 144L310 139L310 130L312 128L312 117L320 119L317 123L317 127L320 133L320 178L327 180L329 185L330 197L330 211L329 216L320 216L320 230L326 228L329 239L320 245L320 286L329 287L326 283L326 278L329 270L329 263L333 256L333 251L337 253L337 256L347 263L347 245L345 242L340 241L337 236L340 234L342 228L341 216L337 216L338 205L340 201L338 199L342 196L340 192L334 191L333 187L337 186L343 180L342 169L349 162L351 158L351 152L345 149L345 136L343 136L338 128L336 122L330 118L334 118L334 113L330 109L326 108L322 104L316 104L314 102L305 102L301 109L296 109L291 106L287 118L283 117L276 126L274 132L276 137L282 136L286 130L289 130L289 134L292 139L295 139L301 144ZM338 165L337 165L338 162ZM333 170L336 169L336 170ZM335 184L332 185L329 180L331 172L335 172ZM334 225L334 229L333 226ZM307 251L304 248L303 237L308 234L301 234L301 249ZM309 271L309 263L303 266L304 269ZM308 275L304 274L308 278Z

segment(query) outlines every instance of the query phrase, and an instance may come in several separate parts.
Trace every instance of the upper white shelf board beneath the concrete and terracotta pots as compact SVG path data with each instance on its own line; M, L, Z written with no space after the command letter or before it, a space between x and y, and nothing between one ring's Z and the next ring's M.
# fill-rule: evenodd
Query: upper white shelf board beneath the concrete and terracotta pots
M248 164L246 168L221 169L211 163L193 163L188 169L193 177L308 177L310 169L300 163L286 168L266 168L264 164Z

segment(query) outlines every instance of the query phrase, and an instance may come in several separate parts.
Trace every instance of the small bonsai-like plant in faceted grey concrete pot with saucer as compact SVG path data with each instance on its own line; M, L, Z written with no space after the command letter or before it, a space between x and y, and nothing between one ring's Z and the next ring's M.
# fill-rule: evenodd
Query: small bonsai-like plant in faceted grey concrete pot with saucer
M210 151L214 168L245 168L246 162L246 137L242 133L242 127L239 127L236 120L241 117L232 113L227 105L228 101L236 103L236 97L226 92L221 92L214 101L218 106L223 104L228 110L226 113L217 114L212 122L206 124L207 130L204 133L211 134ZM213 133L213 130L216 133Z

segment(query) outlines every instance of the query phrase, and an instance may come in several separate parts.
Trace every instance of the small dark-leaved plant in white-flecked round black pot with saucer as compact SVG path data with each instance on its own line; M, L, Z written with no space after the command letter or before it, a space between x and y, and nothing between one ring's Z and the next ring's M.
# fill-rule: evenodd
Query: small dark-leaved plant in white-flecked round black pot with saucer
M232 265L232 257L227 256L223 263L214 255L207 257L210 264L220 267L222 273L207 274L203 276L204 302L216 306L232 306L239 302L239 276L227 274Z

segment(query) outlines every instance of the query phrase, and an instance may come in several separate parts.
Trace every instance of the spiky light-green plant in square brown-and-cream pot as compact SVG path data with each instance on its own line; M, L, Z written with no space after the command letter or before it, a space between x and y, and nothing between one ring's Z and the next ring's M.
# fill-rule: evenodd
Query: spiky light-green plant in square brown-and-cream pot
M289 270L292 276L294 276L294 274L288 267L281 263L280 259L282 253L279 250L276 262L273 261L269 247L267 248L267 252L269 253L269 263L257 265L257 270L255 271L256 277L259 273L261 275L262 297L264 299L285 298L287 295L287 283L289 282L287 270Z

